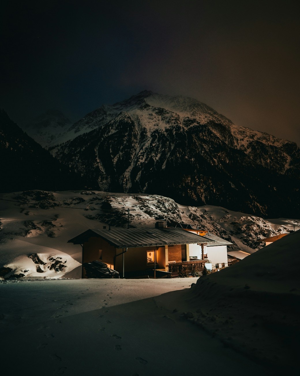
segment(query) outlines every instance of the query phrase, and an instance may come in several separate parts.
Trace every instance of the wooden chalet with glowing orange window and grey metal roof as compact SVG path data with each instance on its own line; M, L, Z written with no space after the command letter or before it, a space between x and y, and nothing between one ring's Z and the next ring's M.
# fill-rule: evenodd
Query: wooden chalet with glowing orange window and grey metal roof
M153 269L168 272L169 264L193 262L190 244L215 242L181 228L160 226L163 224L156 223L156 228L90 229L68 243L81 245L83 264L101 260L124 276Z

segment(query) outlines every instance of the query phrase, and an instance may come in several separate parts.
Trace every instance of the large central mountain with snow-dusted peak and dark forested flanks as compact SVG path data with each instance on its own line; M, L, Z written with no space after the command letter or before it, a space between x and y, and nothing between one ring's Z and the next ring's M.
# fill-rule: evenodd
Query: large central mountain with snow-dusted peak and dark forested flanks
M68 138L51 152L93 189L268 217L299 212L296 143L236 126L189 97L143 91L87 114L60 141Z

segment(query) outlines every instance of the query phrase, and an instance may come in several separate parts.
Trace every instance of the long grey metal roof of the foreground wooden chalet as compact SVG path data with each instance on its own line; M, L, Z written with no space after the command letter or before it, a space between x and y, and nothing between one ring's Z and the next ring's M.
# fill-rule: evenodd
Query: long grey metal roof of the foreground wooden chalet
M92 237L102 238L116 248L214 243L214 240L174 227L161 229L90 229L69 240L68 243L83 244Z

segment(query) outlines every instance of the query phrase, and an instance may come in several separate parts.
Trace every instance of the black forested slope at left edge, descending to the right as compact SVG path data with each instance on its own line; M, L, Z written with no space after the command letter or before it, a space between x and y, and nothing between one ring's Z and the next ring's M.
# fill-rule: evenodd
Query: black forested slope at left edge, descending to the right
M0 110L0 192L74 189L84 186L71 172Z

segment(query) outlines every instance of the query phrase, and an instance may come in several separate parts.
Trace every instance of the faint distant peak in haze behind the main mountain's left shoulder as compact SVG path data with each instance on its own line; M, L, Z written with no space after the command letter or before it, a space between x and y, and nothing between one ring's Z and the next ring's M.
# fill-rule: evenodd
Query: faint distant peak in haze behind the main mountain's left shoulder
M61 111L57 109L49 109L44 114L41 114L30 121L24 130L37 143L45 148L57 144L57 139L61 139L72 125Z

